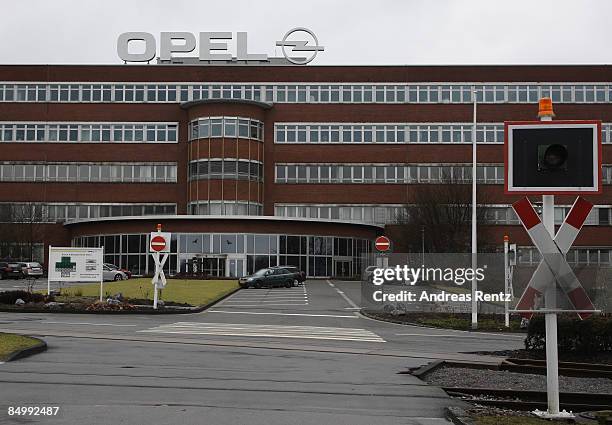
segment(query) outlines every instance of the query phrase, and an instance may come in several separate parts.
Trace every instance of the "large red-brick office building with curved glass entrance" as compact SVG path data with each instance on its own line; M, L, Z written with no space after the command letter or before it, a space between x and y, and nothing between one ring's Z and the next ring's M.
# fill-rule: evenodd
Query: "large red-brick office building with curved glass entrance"
M171 273L197 257L212 274L352 275L415 185L469 183L474 89L481 230L522 261L535 253L503 193L503 121L535 119L542 96L560 119L602 120L604 190L569 260L610 264L609 66L0 66L0 219L41 222L40 260L103 245L146 273L161 222ZM556 203L561 221L572 199Z

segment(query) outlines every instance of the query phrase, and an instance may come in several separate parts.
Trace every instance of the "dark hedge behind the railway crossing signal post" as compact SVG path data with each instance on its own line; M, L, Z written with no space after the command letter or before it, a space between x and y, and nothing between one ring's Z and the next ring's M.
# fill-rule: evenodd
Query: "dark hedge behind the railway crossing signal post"
M586 320L577 317L557 317L557 342L559 351L594 353L612 351L612 315L593 316ZM543 315L529 321L527 350L546 348L546 326Z

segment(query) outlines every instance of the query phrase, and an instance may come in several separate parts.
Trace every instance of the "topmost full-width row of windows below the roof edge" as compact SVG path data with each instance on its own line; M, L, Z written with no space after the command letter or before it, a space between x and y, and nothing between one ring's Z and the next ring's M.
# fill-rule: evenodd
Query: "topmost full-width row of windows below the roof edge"
M189 84L5 83L0 102L187 102L246 99L277 103L555 103L612 101L610 83Z

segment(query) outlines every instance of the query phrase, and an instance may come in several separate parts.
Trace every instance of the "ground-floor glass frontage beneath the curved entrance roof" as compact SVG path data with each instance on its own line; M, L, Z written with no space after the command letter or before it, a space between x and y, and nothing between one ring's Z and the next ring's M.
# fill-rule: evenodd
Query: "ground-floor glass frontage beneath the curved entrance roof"
M145 234L84 236L73 239L73 246L104 246L105 261L137 275L154 272ZM365 239L253 234L173 234L170 246L172 253L164 267L168 274L188 271L193 266L194 255L198 255L196 261L201 263L201 270L206 274L234 277L276 265L294 265L307 276L329 277L337 273L332 253L343 257L343 265L352 267L352 274L347 275L352 276L361 268L360 256L371 251L371 242ZM296 246L300 254L279 254L279 251L295 252ZM239 259L225 258L226 254L245 251L248 254ZM208 255L202 257L201 254Z

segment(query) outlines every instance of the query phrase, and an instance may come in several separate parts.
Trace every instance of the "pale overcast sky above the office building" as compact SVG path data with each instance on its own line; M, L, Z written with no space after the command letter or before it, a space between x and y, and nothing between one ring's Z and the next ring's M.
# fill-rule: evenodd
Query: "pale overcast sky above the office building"
M610 0L3 0L2 16L4 64L121 63L127 31L246 31L249 53L279 56L297 26L319 65L612 61Z

